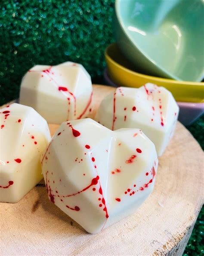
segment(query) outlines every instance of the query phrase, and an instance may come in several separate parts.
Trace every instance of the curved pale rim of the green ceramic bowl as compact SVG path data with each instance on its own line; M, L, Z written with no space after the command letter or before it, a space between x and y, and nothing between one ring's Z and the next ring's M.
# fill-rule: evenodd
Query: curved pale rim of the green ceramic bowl
M144 51L133 41L132 37L126 32L126 29L124 27L124 22L123 22L123 19L121 18L120 12L119 12L119 4L120 3L121 3L121 0L115 0L115 14L116 14L118 23L121 26L121 29L123 30L124 34L127 36L127 39L130 41L130 43L133 44L133 46L138 49L138 51L144 56L144 58L146 58L148 61L150 61L152 64L154 64L164 74L167 74L168 77L172 77L172 80L183 81L181 78L179 78L173 74L170 74L166 69L161 67L161 65L158 64L158 61L153 60L152 58L150 58L150 56L148 56L148 54L145 54ZM201 77L199 77L195 83L199 83L198 80L201 80L202 77L203 77L203 75L201 75ZM164 78L164 79L168 79L168 78ZM169 80L170 80L170 78L169 78ZM188 81L188 82L191 82L191 81Z

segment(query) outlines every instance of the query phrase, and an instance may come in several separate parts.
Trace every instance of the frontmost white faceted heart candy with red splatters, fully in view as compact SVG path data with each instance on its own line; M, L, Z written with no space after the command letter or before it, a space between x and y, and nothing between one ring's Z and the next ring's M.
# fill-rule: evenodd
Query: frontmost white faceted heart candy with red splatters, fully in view
M111 131L86 118L62 123L41 163L50 201L97 233L145 201L158 159L139 129Z

